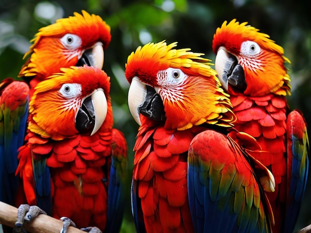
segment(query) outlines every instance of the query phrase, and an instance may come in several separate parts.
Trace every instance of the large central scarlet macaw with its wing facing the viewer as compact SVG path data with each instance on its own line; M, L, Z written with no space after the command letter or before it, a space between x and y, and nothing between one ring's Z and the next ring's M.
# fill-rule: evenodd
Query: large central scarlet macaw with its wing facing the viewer
M273 177L235 142L253 138L227 136L235 116L209 60L176 45L138 47L126 64L129 109L140 125L131 190L136 229L268 232L273 216L262 189L273 191Z

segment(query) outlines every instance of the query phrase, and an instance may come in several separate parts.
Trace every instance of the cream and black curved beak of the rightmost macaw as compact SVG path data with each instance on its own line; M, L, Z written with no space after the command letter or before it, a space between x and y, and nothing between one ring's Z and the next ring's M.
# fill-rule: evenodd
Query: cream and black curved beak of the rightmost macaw
M219 81L226 90L228 90L228 83L243 91L246 89L243 67L224 47L218 49L215 58L215 70L218 73Z

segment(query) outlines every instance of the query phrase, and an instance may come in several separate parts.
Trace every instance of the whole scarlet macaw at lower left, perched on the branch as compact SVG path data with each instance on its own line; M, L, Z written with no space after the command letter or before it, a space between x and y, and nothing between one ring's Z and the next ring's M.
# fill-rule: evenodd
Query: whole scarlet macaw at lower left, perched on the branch
M16 171L21 179L17 205L28 203L30 211L38 205L79 228L118 232L127 145L112 128L110 77L86 65L61 71L39 82L29 102L26 143ZM4 97L1 101L10 101ZM26 221L35 217L29 215ZM17 228L22 224L23 219L16 221Z

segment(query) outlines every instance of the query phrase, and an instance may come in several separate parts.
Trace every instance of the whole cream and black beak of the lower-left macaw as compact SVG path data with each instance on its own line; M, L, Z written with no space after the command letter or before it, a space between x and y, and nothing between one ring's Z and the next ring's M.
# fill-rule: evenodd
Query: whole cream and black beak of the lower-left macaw
M93 135L103 124L108 111L107 99L102 89L95 90L86 97L76 116L76 128L80 133L91 130Z

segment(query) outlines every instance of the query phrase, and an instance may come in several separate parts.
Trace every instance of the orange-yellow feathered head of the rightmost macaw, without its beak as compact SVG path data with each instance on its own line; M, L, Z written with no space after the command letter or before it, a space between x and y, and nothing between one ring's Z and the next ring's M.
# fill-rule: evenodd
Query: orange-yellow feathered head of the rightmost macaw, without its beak
M235 56L243 67L247 85L245 95L289 93L290 77L284 63L290 61L284 57L283 48L271 40L269 35L247 25L247 22L239 23L233 19L228 24L225 21L214 34L215 54L220 47Z

